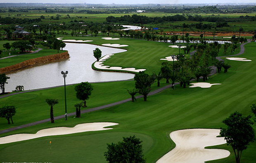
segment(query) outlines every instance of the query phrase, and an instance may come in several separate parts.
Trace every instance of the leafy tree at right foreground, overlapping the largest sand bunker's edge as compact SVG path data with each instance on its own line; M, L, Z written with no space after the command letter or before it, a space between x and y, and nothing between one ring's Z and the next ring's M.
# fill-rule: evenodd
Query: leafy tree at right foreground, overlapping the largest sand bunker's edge
M242 113L236 111L228 118L223 120L223 123L228 128L220 128L220 135L225 137L227 144L230 145L235 153L236 163L240 163L242 151L247 149L250 142L254 142L255 134L251 125L251 116L242 116Z

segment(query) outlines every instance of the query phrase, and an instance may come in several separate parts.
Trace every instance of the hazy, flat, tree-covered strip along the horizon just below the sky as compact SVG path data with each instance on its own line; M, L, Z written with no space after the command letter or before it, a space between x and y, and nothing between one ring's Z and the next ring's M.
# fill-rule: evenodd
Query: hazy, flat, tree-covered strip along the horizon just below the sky
M121 9L116 9L117 7L104 7L97 6L97 8L103 9L101 11L92 10L91 7L87 9L81 8L81 6L69 6L69 7L57 7L54 9L47 7L28 7L28 6L20 6L20 7L7 7L5 5L0 9L0 12L31 12L33 10L37 11L45 11L45 12L69 12L69 13L87 13L87 14L118 14L118 13L126 13L126 12L136 12L137 10L145 10L146 12L165 12L165 13L206 13L206 14L227 14L227 13L254 13L256 12L256 6L251 5L215 5L215 6L151 6L151 7L135 7L132 8L126 7Z

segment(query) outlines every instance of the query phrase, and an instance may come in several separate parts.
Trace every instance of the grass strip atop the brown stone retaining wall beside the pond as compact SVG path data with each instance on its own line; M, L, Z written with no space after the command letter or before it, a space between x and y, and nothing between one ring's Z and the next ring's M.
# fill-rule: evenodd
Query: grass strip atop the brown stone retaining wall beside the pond
M66 52L66 51L60 50L59 53L61 53L61 52ZM57 50L40 50L39 52L34 53L34 54L26 54L26 55L21 55L21 56L17 56L17 57L1 59L0 60L0 68L18 64L18 63L20 63L22 61L26 61L28 59L43 57L43 56L52 55L52 54L57 54Z

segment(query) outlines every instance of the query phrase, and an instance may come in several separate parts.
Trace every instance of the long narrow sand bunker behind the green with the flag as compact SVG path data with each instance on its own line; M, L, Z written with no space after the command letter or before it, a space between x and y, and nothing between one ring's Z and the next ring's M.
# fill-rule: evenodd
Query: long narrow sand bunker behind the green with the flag
M83 123L76 125L73 128L60 127L60 128L47 128L38 131L36 134L16 134L9 135L6 137L0 137L0 144L19 142L28 139L35 139L38 137L55 136L55 135L67 135L78 132L87 131L100 131L100 130L110 130L113 128L104 128L112 125L118 125L118 123L111 122L98 122L98 123Z

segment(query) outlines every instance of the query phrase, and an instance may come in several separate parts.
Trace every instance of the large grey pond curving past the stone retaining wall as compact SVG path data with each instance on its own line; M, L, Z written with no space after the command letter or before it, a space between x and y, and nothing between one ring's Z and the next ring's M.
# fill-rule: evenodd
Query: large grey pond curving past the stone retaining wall
M93 70L91 66L92 63L96 61L95 57L93 57L93 50L97 47L102 51L102 56L126 51L90 44L66 43L66 47L63 50L69 51L70 59L33 66L14 73L8 73L7 76L9 76L10 79L7 80L8 84L5 85L5 92L15 90L17 85L23 85L24 90L64 85L64 78L62 77L61 71L69 71L66 77L66 84L86 81L103 82L127 80L134 77L134 74L130 73Z

